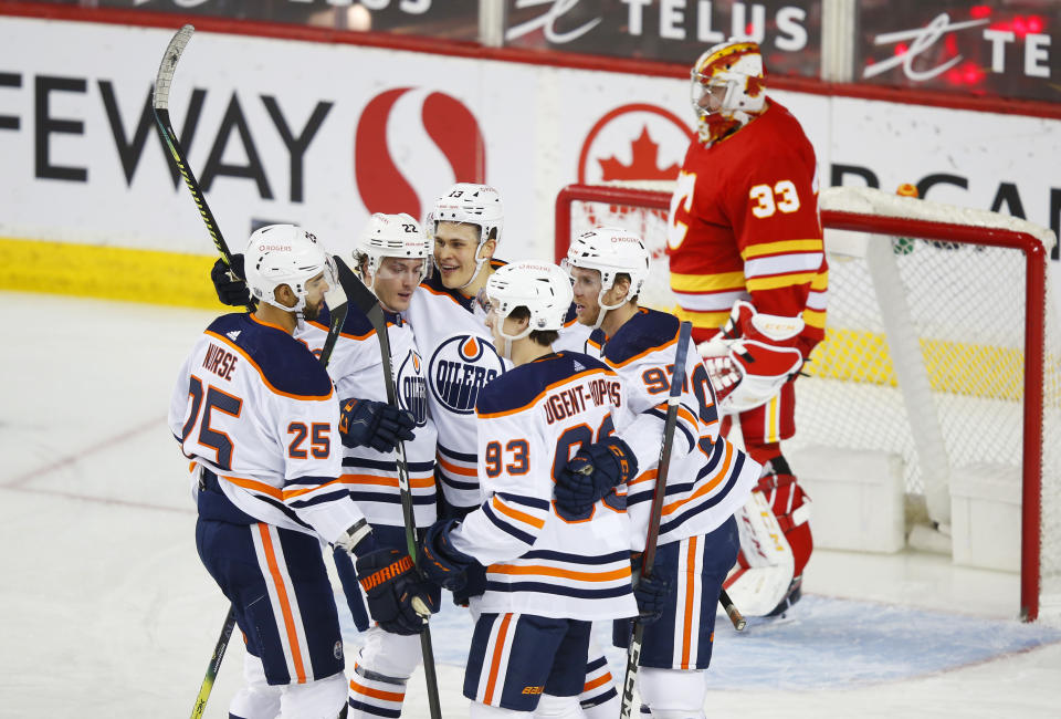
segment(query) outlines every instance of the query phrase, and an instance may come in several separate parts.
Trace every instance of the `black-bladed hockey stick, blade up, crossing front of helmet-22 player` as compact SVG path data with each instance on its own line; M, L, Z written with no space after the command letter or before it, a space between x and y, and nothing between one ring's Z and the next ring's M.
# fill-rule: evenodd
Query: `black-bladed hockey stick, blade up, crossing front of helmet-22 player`
M335 264L339 271L339 285L346 293L348 302L365 313L372 327L376 330L376 338L379 341L379 355L384 365L384 384L387 387L387 404L398 407L398 392L395 388L395 374L390 361L390 335L387 333L387 319L384 316L384 309L379 304L379 299L372 294L364 282L354 273L343 258L336 257ZM398 467L398 492L401 497L401 518L406 524L406 546L409 556L412 558L413 566L420 572L420 556L417 551L416 518L412 512L412 491L409 489L409 465L406 461L405 442L398 441L395 447L398 454L396 465ZM427 617L430 615L428 607L423 605L420 597L413 597L412 606L418 614ZM439 681L434 669L434 652L431 648L431 629L423 627L420 633L420 652L423 654L423 674L428 680L428 707L431 711L431 719L441 719L442 709L439 702Z

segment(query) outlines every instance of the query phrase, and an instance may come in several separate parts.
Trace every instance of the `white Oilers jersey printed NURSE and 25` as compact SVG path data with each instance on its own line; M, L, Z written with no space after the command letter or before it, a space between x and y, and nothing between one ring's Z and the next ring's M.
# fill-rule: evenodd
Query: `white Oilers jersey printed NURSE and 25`
M249 314L214 320L185 361L169 426L254 519L332 542L363 513L337 481L343 454L332 381L306 347Z

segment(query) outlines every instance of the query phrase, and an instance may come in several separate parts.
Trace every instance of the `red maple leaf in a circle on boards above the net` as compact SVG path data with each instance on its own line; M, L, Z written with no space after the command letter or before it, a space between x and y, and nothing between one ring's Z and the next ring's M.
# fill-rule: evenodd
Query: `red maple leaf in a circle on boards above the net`
M693 132L674 113L643 103L597 121L578 158L579 183L673 180Z

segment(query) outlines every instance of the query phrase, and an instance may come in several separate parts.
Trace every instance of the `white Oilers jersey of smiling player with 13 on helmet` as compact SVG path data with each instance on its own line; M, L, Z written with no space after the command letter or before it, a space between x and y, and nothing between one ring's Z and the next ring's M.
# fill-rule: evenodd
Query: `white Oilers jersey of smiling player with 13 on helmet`
M406 317L427 363L428 404L438 426L438 477L454 507L480 502L475 403L487 382L512 367L493 345L486 313L475 300L437 278L412 294Z

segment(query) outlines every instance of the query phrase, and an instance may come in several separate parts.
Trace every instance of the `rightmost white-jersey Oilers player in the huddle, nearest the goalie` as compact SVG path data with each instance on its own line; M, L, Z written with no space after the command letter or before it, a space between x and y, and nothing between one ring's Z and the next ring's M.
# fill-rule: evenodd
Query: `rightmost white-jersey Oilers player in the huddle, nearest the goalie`
M616 435L584 447L556 473L556 503L585 511L626 483L635 541L643 548L655 470L663 441L666 397L679 321L638 306L648 278L649 253L640 238L598 228L571 243L565 268L574 280L579 322L593 327L589 350L623 381L635 419L616 423ZM737 558L734 512L758 480L759 466L718 435L718 413L707 371L693 347L683 373L677 428L668 476L653 575L669 577L671 594L659 622L648 626L638 688L651 716L704 717L716 606L722 583ZM623 466L635 458L640 475ZM587 466L593 470L586 473ZM630 639L617 623L617 646Z

